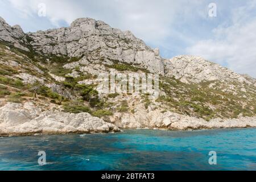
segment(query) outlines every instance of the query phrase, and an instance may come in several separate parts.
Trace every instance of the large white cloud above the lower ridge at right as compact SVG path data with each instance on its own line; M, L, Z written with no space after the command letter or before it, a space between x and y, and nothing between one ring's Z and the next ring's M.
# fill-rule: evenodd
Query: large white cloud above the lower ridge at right
M251 1L247 6L234 9L229 26L223 23L212 31L213 38L199 40L186 52L256 77L256 18L250 14L255 5L255 1Z

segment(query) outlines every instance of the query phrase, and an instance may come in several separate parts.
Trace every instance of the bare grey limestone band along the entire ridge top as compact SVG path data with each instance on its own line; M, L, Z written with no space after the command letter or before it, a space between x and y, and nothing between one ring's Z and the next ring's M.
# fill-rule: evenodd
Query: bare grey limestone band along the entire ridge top
M253 78L239 75L210 63L199 56L176 56L172 59L162 59L159 49L151 49L141 39L130 31L121 31L108 24L92 18L79 18L70 27L62 27L47 31L24 34L19 26L9 26L0 18L0 39L13 43L15 47L28 51L28 44L38 52L47 55L66 55L81 57L79 61L67 63L65 69L82 67L81 72L97 75L104 69L102 65L115 63L131 64L167 77L175 77L182 82L199 83L201 81L229 81L254 84ZM95 71L94 65L100 65L100 71ZM76 73L72 74L77 77ZM72 76L69 75L69 76ZM254 81L251 82L250 80Z

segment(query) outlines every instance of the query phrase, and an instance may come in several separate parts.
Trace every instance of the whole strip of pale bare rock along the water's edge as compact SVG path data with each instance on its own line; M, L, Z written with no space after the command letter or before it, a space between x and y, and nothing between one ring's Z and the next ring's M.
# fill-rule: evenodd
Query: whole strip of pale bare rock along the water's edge
M170 111L162 113L159 110L123 114L121 118L117 115L114 114L110 122L105 122L89 113L43 111L32 102L7 102L0 107L0 136L115 133L121 129L200 130L256 127L256 117L216 118L205 121Z

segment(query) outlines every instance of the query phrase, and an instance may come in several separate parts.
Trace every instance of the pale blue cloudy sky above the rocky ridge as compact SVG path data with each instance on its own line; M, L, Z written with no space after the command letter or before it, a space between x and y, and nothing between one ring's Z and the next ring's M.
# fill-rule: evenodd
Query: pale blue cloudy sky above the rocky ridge
M197 55L256 77L256 0L0 0L0 16L24 32L103 20L166 59Z

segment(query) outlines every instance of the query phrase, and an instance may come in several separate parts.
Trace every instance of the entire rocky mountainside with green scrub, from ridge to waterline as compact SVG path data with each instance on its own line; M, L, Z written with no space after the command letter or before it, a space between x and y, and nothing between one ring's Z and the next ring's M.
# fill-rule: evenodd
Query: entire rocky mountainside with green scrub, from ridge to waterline
M110 69L125 75L159 73L159 98L151 100L148 93L101 93L97 76ZM70 27L28 34L1 18L0 88L4 118L0 133L4 134L26 133L26 127L27 133L79 133L118 131L117 127L187 130L255 126L255 78L199 56L163 59L158 49L151 49L130 31L91 18L76 19ZM27 111L27 102L46 111ZM17 129L12 114L5 115L11 113L10 106L16 108L15 117L27 119ZM106 123L79 113L90 113ZM71 123L72 118L77 118L77 123Z

